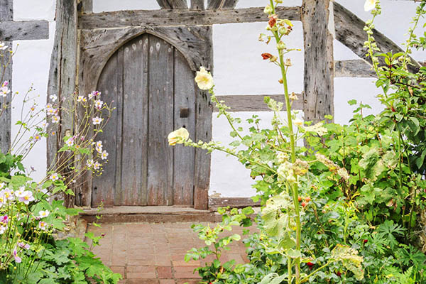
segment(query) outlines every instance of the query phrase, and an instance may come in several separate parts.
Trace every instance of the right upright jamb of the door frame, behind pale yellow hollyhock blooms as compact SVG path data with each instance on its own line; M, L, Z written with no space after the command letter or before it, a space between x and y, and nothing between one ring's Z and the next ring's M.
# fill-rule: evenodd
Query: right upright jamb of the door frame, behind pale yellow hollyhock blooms
M212 26L204 26L204 42L206 50L204 52L204 64L213 74L213 45ZM196 89L196 125L195 141L212 140L212 102L209 94L200 89ZM210 184L210 162L211 155L200 148L195 151L195 189L194 208L208 209L209 207L209 184Z

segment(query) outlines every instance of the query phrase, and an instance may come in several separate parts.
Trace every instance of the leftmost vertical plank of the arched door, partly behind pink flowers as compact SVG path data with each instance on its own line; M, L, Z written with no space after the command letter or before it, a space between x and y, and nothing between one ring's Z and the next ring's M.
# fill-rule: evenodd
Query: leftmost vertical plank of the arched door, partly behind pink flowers
M117 70L119 70L118 58L119 56L117 53L111 56L99 78L98 89L102 92L101 99L107 103L111 103L113 100L116 102L116 97L120 95L119 89L117 89L117 86L119 86L121 82L121 73L117 72ZM118 108L117 106L117 109ZM96 207L101 202L103 202L106 207L114 205L114 185L117 165L116 140L117 136L120 135L116 133L118 120L117 111L113 111L104 131L99 133L95 139L95 142L102 141L102 146L109 155L108 163L104 164L104 172L102 175L94 175L93 178L92 207Z

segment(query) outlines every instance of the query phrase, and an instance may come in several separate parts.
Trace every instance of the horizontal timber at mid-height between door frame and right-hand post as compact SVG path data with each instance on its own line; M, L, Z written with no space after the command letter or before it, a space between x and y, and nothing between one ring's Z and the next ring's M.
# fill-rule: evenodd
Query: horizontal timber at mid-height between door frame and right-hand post
M271 99L275 99L277 102L284 102L285 98L283 94L236 94L236 95L218 95L217 99L219 101L224 101L226 106L230 107L229 111L231 112L239 112L239 111L271 111L268 106L265 104L263 99L265 97L271 97ZM298 94L297 99L292 104L292 109L303 109L303 101L302 95ZM285 110L285 104L283 107ZM216 107L214 107L215 112L218 111Z

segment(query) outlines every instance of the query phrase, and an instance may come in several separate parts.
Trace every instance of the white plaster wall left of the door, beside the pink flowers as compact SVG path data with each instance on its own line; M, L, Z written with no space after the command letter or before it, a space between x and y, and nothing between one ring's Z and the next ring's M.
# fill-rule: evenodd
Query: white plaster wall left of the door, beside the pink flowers
M55 36L55 0L43 0L43 5L34 4L31 0L13 1L13 20L49 21L49 39L47 40L16 40L13 42L13 50L17 50L13 57L13 92L19 92L13 101L12 121L21 119L23 95L32 86L31 96L40 107L46 104L46 92L48 87L48 75L50 67L50 54L53 48ZM26 114L31 107L32 100L26 104L23 113ZM12 125L12 137L16 135L18 126ZM32 134L32 133L31 133ZM31 135L28 135L28 137ZM36 143L33 151L24 160L27 168L35 168L33 178L39 180L45 176L46 146L45 138Z

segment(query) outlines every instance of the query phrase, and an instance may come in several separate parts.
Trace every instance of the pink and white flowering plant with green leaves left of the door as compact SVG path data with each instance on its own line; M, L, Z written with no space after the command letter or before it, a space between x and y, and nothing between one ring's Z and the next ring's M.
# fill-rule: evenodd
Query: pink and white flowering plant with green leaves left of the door
M100 92L73 94L67 101L52 95L45 107L35 103L33 89L23 97L12 93L4 74L13 54L0 43L0 116L14 99L23 101L17 134L9 151L0 152L0 283L117 283L121 275L92 253L102 236L85 234L91 246L72 236L72 216L81 210L63 204L87 170L102 173L108 153L96 136L113 108L102 102ZM33 180L35 168L25 168L23 159L36 143L58 135L50 126L61 123L61 114L75 116L76 127L63 138L45 178Z

